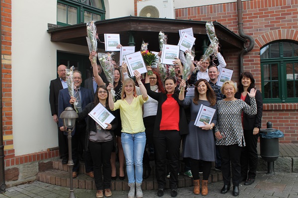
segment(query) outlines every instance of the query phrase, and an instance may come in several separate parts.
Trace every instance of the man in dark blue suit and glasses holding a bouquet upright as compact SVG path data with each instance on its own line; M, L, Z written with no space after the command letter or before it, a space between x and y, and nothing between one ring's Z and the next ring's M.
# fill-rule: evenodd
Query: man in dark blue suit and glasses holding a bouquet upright
M78 101L77 110L78 112L81 112L82 109L85 108L85 106L94 101L94 98L92 97L91 90L85 89L81 87L82 83L82 77L81 73L79 71L74 71L74 87L75 87L75 98ZM66 107L72 107L70 103L70 95L68 89L63 89L59 91L59 97L58 97L58 112L59 112L59 127L61 131L65 131L63 126L63 120L60 118L61 113L65 110ZM64 132L64 135L67 136L67 133ZM79 170L79 159L78 159L78 153L77 153L77 147L78 143L82 145L82 147L85 149L85 138L86 138L86 122L83 121L76 121L75 122L75 130L72 132L72 155L74 160L74 168L73 168L73 178L75 178L78 174ZM86 174L90 177L94 177L93 174L93 163L90 151L85 151L85 169Z

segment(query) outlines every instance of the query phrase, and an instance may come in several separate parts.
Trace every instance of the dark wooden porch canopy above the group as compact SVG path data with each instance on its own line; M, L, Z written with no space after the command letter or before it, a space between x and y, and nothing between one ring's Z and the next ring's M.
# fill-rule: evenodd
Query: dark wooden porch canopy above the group
M196 51L201 51L202 46L207 47L206 21L177 20L166 18L147 18L126 16L121 18L97 21L97 33L100 41L104 42L104 34L120 34L123 46L136 46L136 51L141 48L142 41L149 43L149 50L159 51L158 33L163 31L168 37L168 44L177 45L179 41L178 30L193 28ZM213 22L215 32L219 38L222 49L242 49L245 39L236 35L222 24ZM87 46L86 24L77 24L67 27L49 28L51 41ZM104 44L98 42L98 48L104 49Z

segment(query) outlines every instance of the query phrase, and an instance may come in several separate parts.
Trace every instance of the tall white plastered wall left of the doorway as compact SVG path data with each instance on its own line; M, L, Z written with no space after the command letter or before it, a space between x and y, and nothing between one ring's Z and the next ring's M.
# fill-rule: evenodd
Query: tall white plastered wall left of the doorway
M82 46L51 42L48 23L57 24L57 0L12 1L12 130L15 155L58 146L49 104L57 75L57 50L88 53Z

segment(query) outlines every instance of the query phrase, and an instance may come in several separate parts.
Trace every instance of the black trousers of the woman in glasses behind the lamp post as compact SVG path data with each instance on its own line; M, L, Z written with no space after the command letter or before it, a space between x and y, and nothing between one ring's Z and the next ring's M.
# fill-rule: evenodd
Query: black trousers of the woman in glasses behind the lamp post
M96 190L104 190L111 188L111 153L113 147L113 140L108 142L89 141L89 150L91 152L93 160L94 181ZM103 174L101 173L101 167Z

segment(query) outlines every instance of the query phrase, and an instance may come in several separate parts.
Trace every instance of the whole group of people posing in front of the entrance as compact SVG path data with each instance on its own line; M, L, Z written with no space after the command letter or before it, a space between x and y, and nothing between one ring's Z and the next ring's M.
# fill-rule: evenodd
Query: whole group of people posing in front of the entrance
M192 74L185 81L180 75L185 58L180 54L180 57L173 62L177 65L176 76L168 76L164 82L161 82L158 70L152 71L151 76L146 73L146 78L143 80L141 73L135 70L134 74L131 74L135 76L134 80L128 76L127 65L123 63L121 69L115 68L115 82L111 84L99 74L100 67L92 62L93 57L96 57L95 51L89 56L94 74L92 81L94 97L92 98L91 90L80 87L81 75L75 71L74 85L77 89L75 97L70 97L68 89L62 89L61 86L57 96L58 103L55 102L58 110L52 110L52 105L51 110L54 121L58 123L59 133L62 133L65 129L58 117L67 106L72 106L78 101L79 117L76 120L75 132L72 134L72 141L76 143L72 148L73 177L77 176L78 171L77 148L74 147L81 141L85 149L86 173L94 177L97 198L102 198L103 195L112 196L111 179L117 177L116 147L120 179L125 178L124 161L126 161L130 187L128 198L134 198L135 195L137 198L143 197L141 188L143 178L148 178L151 171L146 145L154 146L158 197L164 194L166 161L170 171L170 195L177 196L181 142L182 155L186 159L186 164L189 164L188 171L194 179L195 195L208 195L208 178L213 161L216 162L216 168L223 172L222 194L230 189L230 166L233 196L239 195L240 182L244 181L244 185L254 182L257 167L256 146L263 105L261 93L255 89L255 81L250 72L241 74L238 90L232 81L224 82L222 87L218 86L219 70L226 66L223 56L218 53L220 63L218 66L210 65L211 60L207 59L201 61L197 72L193 72L192 64ZM64 74L65 68L64 65L58 67L59 77L53 81L63 85L65 78L60 74ZM148 70L151 70L150 66ZM50 103L53 81L50 86ZM188 85L194 85L194 96L188 96ZM112 90L116 92L114 99ZM105 129L88 116L98 103L115 115L111 123L106 123ZM210 123L204 122L203 126L198 127L194 122L201 105L209 106L216 111ZM62 142L60 139L59 146ZM62 150L60 152L64 160L65 155ZM203 172L202 182L200 172Z

